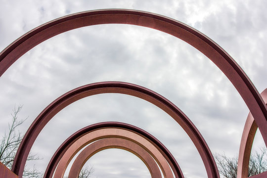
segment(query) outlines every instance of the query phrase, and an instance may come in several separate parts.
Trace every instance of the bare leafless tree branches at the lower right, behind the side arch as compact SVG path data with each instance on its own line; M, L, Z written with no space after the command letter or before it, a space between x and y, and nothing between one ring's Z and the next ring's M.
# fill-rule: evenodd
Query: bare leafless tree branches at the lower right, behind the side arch
M227 157L223 155L215 155L219 173L223 178L237 177L237 156ZM261 152L255 152L250 156L248 177L258 175L267 171L267 151L261 148Z

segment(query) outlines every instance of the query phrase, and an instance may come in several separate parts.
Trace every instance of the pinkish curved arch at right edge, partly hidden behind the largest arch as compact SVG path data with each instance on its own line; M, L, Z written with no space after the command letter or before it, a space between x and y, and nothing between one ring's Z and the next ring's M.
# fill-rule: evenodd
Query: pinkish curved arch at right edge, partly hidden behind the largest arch
M265 103L267 104L267 89L261 93ZM256 134L258 126L251 113L248 114L244 131L242 134L239 155L238 155L238 166L237 166L237 178L247 178L249 159L252 149L253 140ZM267 174L267 172L265 173ZM266 175L261 174L262 178L266 178ZM259 175L260 178L260 175Z

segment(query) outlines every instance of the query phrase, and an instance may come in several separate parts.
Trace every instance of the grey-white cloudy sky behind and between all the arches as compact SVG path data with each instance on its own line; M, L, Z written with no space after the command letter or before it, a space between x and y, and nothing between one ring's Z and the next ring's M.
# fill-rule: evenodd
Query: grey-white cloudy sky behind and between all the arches
M55 18L75 12L128 8L165 15L201 31L242 67L259 92L267 88L267 2L265 0L0 0L0 50ZM238 154L248 114L244 101L223 73L202 53L162 32L133 25L96 25L72 30L34 47L0 78L0 134L10 113L25 133L54 99L77 87L123 81L152 89L171 100L196 125L213 153ZM196 148L166 113L123 94L79 100L58 113L37 138L34 164L45 171L54 151L71 134L90 124L119 121L140 127L163 142L186 178L207 177ZM254 149L264 145L260 134ZM28 163L29 165L33 163ZM88 162L92 178L149 178L134 155L110 149Z

